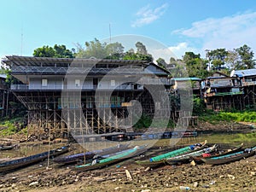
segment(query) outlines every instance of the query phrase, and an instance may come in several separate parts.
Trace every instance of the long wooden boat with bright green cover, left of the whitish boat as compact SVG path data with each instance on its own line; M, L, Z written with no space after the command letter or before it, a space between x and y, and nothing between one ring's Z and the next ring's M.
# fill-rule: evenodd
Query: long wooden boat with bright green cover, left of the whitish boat
M166 154L160 154L150 158L149 160L137 160L136 163L140 166L155 168L158 166L167 165L166 158L175 157L181 154L189 154L189 152L197 151L202 148L206 148L207 140L203 143L195 143L194 145L189 145L184 148L178 148Z

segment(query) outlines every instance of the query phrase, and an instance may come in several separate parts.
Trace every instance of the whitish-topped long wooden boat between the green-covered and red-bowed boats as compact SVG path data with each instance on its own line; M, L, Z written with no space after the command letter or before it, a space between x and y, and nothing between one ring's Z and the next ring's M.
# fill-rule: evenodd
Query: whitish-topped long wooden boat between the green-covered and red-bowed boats
M169 165L175 165L175 164L182 164L182 163L188 163L189 160L192 160L192 157L199 156L201 154L205 153L212 153L212 151L215 151L217 149L218 145L214 144L212 147L209 148L202 148L201 150L197 150L195 152L191 152L189 154L181 154L172 158L167 158L166 162Z

